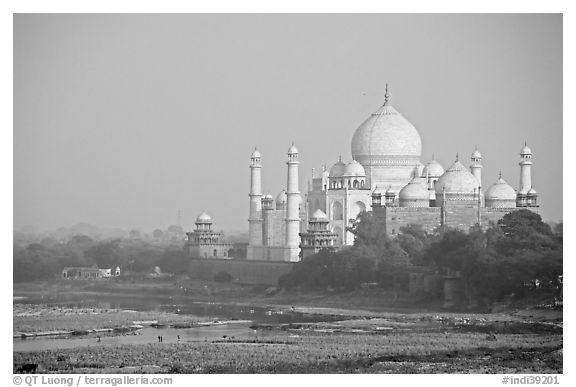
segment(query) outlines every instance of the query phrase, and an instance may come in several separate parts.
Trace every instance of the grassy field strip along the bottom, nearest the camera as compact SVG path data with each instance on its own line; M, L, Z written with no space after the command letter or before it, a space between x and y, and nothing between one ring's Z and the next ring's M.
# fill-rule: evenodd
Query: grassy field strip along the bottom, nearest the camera
M14 353L63 373L561 373L562 336L317 334Z

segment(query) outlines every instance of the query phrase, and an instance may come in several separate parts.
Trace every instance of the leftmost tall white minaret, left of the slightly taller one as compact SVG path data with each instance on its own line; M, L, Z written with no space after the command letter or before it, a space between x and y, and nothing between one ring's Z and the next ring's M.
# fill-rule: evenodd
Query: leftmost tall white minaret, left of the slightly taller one
M248 218L247 259L262 259L262 156L254 148L250 156L250 217Z

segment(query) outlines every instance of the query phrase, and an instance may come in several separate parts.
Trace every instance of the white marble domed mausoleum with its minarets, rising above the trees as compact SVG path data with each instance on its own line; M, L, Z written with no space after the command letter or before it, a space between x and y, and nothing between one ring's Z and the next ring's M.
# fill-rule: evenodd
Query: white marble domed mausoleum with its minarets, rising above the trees
M432 158L420 161L422 141L416 128L390 104L368 117L352 137L352 161L340 158L319 176L312 172L305 200L298 186L298 150L288 150L286 191L276 200L262 193L262 155L250 164L250 216L247 259L298 261L323 248L352 245L347 231L362 211L372 211L394 236L408 224L431 232L440 226L468 231L496 222L519 208L537 211L532 187L532 151L520 151L520 186L514 190L500 175L483 191L482 155L475 149L469 169L458 155L444 169Z

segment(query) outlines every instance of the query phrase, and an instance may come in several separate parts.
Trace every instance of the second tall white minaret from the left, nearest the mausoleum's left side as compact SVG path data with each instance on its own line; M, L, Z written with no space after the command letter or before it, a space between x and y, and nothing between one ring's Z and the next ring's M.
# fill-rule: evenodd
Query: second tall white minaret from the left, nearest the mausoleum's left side
M299 261L300 253L300 190L298 188L298 149L292 144L288 149L288 184L286 188L286 253L285 261Z

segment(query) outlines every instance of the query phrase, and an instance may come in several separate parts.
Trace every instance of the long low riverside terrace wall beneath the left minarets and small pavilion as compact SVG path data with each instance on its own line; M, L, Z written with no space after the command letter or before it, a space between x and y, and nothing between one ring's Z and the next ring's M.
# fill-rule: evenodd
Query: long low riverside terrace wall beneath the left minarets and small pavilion
M235 283L278 286L280 276L289 273L293 265L293 262L193 259L190 262L190 277L212 281L219 272L226 272Z

